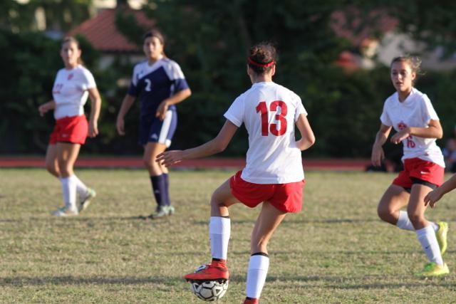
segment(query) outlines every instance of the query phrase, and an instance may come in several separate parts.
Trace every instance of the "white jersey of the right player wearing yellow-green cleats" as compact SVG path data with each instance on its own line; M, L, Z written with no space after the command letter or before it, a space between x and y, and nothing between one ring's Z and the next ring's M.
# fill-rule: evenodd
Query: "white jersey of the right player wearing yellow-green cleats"
M380 116L383 125L392 126L397 132L405 127L427 127L430 120L438 119L439 117L427 95L415 88L402 103L399 101L397 92L391 95L385 100L383 112ZM445 167L442 151L435 144L435 138L410 135L402 143L403 160L418 157Z

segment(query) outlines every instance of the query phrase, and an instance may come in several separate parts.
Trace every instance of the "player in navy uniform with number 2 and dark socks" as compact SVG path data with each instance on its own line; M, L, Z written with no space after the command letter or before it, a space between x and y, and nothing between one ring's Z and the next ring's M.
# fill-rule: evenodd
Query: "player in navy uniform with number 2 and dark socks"
M157 201L157 209L151 214L152 219L175 212L170 204L168 170L155 162L155 157L171 144L177 127L175 104L192 94L180 66L165 57L164 47L165 38L160 31L154 29L145 33L142 50L147 60L135 65L130 88L117 119L118 133L125 135L124 117L139 97L139 141L144 147L143 160Z

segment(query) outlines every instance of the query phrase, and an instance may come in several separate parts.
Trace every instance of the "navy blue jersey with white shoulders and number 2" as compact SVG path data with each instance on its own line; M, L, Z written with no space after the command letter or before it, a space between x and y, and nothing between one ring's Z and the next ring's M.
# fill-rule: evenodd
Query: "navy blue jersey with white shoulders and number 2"
M147 61L135 65L128 95L140 98L142 118L155 117L158 105L163 100L187 88L180 66L162 57L152 65ZM175 105L170 105L169 110L175 110Z

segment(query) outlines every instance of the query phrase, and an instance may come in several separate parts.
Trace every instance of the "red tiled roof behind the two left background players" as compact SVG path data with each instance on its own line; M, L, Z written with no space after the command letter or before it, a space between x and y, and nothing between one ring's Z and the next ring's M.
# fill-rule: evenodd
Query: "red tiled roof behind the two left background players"
M93 47L104 52L140 52L140 47L125 38L115 28L115 9L105 9L92 19L84 21L67 33L68 36L85 36ZM155 21L148 19L144 11L124 10L124 14L132 14L140 25L151 28Z

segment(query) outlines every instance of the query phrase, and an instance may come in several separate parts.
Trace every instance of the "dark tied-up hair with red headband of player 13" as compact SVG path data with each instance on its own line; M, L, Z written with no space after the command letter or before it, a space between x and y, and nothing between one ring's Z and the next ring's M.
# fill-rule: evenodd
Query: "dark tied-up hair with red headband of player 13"
M257 74L268 73L277 61L277 50L270 42L260 42L252 46L247 64Z

